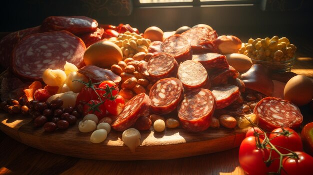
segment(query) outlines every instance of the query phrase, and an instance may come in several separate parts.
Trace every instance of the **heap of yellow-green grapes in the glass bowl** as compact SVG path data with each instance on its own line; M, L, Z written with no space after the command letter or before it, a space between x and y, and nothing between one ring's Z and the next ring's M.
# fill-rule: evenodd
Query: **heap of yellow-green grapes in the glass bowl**
M262 61L286 61L294 57L296 47L290 44L286 37L273 36L264 39L250 38L247 43L242 43L239 53L251 59Z

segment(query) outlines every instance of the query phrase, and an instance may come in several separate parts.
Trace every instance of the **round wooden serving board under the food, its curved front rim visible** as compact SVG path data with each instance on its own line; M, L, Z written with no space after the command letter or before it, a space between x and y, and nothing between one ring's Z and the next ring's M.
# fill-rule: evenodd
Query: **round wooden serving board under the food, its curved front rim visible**
M0 113L0 130L11 138L30 147L77 158L95 160L165 160L203 155L238 147L246 129L209 128L200 133L190 133L182 128L166 129L157 133L140 132L141 145L135 153L121 141L121 132L111 131L99 144L89 141L90 133L81 133L77 125L67 130L44 132L35 128L30 117Z

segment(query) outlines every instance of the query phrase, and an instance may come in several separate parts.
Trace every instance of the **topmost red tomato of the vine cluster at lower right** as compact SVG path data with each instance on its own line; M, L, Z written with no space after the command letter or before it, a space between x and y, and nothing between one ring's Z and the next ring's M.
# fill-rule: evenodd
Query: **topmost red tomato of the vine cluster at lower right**
M281 128L276 128L269 134L270 143L272 143L277 150L282 154L290 153L291 151L302 151L302 142L300 136L290 128L283 128L286 132L284 134L278 134L283 132ZM280 148L282 147L282 148ZM286 149L283 149L286 148Z

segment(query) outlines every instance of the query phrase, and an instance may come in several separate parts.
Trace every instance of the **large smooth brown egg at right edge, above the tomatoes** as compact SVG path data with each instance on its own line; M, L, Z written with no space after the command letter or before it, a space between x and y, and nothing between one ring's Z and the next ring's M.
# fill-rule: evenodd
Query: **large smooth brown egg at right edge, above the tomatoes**
M283 89L283 98L297 106L308 104L313 99L313 82L303 75L292 77Z

